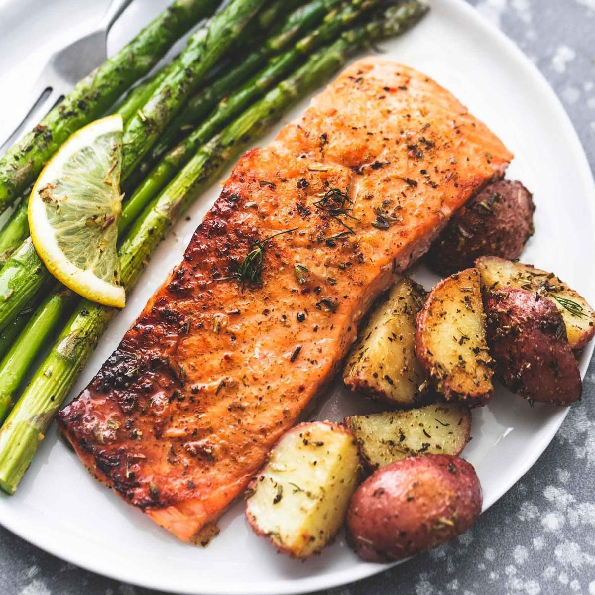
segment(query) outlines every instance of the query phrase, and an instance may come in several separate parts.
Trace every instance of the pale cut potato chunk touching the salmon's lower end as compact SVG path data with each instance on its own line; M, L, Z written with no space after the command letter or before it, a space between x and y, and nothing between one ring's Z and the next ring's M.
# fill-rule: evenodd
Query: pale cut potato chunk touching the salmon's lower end
M357 442L342 425L297 425L250 483L248 522L293 558L319 553L343 525L359 466Z

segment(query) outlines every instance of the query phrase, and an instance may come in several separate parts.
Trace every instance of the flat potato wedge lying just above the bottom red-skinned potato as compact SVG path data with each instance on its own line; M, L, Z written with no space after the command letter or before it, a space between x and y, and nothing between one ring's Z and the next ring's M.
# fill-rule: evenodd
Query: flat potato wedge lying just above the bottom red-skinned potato
M462 403L435 403L407 411L346 417L369 469L408 456L458 455L469 441L471 414Z

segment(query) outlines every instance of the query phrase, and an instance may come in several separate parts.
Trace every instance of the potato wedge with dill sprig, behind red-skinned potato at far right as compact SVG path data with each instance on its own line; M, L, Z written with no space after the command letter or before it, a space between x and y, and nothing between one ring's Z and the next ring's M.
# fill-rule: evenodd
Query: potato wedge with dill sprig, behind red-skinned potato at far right
M553 273L530 264L485 256L475 262L486 290L516 287L537 292L556 306L564 323L571 349L580 349L595 334L595 312L587 302Z

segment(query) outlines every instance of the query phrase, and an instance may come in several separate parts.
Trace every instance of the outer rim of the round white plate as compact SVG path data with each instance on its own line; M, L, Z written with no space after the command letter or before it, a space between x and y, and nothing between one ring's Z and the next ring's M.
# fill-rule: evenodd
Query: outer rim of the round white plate
M472 5L468 4L468 2L465 0L440 0L440 2L447 8L461 12L473 26L486 32L486 35L490 36L494 42L498 43L500 48L511 57L518 67L525 70L527 76L530 77L536 88L541 91L544 101L549 103L550 109L563 120L563 125L565 129L568 130L569 146L577 158L577 161L575 162L576 169L577 171L580 171L581 179L587 182L588 187L590 186L591 199L593 199L593 202L595 203L595 179L587 155L585 154L583 145L578 137L574 124L572 124L568 112L566 112L562 101L560 101L560 98L552 86L550 86L544 74L541 73L537 66L531 62L527 55L524 54L511 38L484 18L480 12L478 12ZM591 209L591 220L595 223L595 209ZM583 364L581 367L584 369L582 370L581 377L583 378L588 365L590 364L594 349L595 341L592 341L582 353L581 359L583 360ZM508 477L508 480L503 481L497 490L493 490L493 492L490 493L490 498L484 500L482 513L486 512L488 508L508 492L527 473L527 471L529 471L529 469L536 463L537 459L543 455L544 450L546 450L547 446L552 442L553 437L558 432L560 425L562 425L568 412L569 407L560 408L554 415L552 415L547 421L546 428L543 428L543 436L541 437L538 446L531 452L531 456L527 457L524 464L519 466L520 471L517 472L517 474ZM5 515L2 515L2 512L0 511L0 524L3 527L7 528L28 543L39 547L39 549L42 549L57 558L66 560L80 568L95 572L104 577L130 583L139 587L158 589L169 593L180 593L180 595L245 595L246 593L250 593L250 595L278 595L280 592L283 592L285 595L298 595L309 593L314 590L324 590L339 587L348 583L354 583L355 581L379 574L380 572L386 571L389 568L393 568L394 566L407 561L401 560L400 562L390 564L360 563L349 571L345 571L345 569L340 571L330 571L325 572L324 575L310 575L303 578L294 578L291 582L286 580L273 580L267 584L266 588L259 587L259 590L246 590L239 584L232 584L227 587L219 588L214 588L211 585L208 587L208 590L196 590L196 588L193 587L180 588L180 585L174 587L171 584L167 584L166 580L159 581L158 583L155 583L154 581L148 582L143 580L142 577L139 577L134 570L126 572L126 570L121 567L111 571L111 569L106 568L105 565L102 566L101 562L95 562L95 559L89 558L83 553L68 549L67 546L58 545L58 543L64 543L63 541L55 541L49 535L44 536L43 534L36 534L35 531L20 526L16 519L3 518L4 516Z

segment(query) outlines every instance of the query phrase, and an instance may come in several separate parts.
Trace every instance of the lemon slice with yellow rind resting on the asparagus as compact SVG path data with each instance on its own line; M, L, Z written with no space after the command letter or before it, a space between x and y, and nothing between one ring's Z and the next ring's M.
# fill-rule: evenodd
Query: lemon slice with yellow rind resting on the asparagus
M123 308L117 254L121 213L120 114L74 133L39 174L29 198L33 246L54 275L79 295Z

